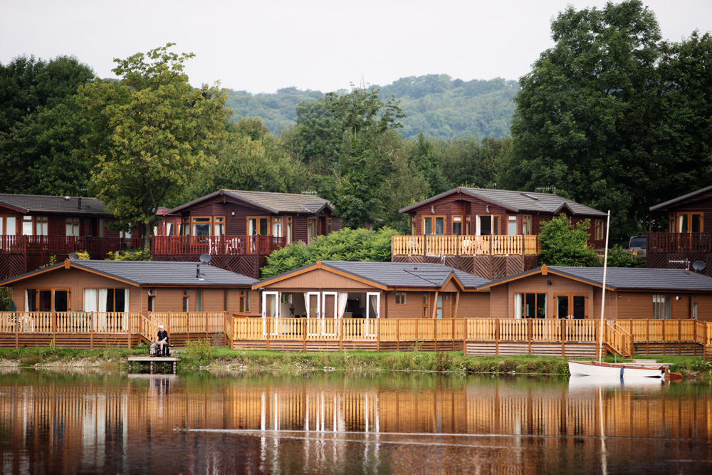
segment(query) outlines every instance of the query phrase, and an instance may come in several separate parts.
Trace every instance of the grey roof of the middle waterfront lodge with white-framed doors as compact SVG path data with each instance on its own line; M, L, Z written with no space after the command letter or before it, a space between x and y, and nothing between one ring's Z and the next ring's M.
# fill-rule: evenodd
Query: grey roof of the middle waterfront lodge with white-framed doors
M451 275L454 275L464 288L474 289L486 283L486 280L473 276L471 273L458 271L442 264L431 263L400 263L400 262L350 262L350 261L320 261L321 267L333 268L348 273L366 281L387 287L430 287L441 288ZM288 271L262 281L269 283L276 278L283 278L290 273L316 267L318 263L303 266L294 271Z

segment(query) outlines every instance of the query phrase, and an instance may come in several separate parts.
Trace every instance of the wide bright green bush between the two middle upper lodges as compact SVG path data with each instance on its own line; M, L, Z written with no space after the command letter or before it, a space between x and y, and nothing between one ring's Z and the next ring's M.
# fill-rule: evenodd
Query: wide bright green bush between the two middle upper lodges
M316 261L389 262L391 237L397 231L389 228L341 229L328 236L319 236L312 244L290 244L274 251L262 268L262 278L276 276Z

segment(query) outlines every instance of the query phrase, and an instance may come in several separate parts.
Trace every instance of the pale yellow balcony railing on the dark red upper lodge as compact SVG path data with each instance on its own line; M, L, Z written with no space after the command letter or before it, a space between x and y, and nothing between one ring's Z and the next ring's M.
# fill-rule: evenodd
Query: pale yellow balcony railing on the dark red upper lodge
M537 256L538 236L393 236L393 256Z

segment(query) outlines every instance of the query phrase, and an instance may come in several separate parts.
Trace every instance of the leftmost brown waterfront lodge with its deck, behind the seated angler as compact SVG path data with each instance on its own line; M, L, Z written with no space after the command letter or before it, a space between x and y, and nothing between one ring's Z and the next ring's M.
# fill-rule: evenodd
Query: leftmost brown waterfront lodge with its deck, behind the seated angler
M159 325L174 344L224 345L232 313L258 304L254 282L192 262L66 259L0 282L12 286L16 310L0 313L0 345L132 348Z

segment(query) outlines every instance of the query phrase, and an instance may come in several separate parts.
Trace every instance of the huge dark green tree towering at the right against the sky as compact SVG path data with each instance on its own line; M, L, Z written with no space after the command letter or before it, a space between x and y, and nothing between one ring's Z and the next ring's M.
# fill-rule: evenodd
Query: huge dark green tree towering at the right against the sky
M639 0L569 6L552 22L552 37L555 46L520 79L505 185L553 185L612 209L614 239L637 234L651 204L710 177L702 145L710 137L708 108L693 113L683 100L712 100L703 92L712 74L708 38L665 46Z

